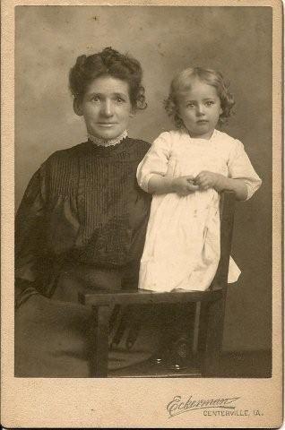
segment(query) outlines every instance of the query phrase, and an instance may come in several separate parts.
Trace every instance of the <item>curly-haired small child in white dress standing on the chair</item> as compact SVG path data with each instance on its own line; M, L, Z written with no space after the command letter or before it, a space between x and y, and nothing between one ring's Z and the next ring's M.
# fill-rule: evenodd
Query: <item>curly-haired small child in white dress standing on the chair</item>
M213 70L189 67L171 82L165 107L177 130L161 133L137 169L139 185L153 193L139 288L210 287L220 260L220 192L229 190L238 200L247 200L262 183L243 144L216 130L234 103L222 75ZM238 280L239 273L230 259L229 282ZM172 369L186 367L191 312L194 308L187 311L186 306L163 309L161 328L168 327L163 330L168 336L164 349L172 348ZM169 335L171 326L175 333ZM159 364L162 357L160 348L154 361Z

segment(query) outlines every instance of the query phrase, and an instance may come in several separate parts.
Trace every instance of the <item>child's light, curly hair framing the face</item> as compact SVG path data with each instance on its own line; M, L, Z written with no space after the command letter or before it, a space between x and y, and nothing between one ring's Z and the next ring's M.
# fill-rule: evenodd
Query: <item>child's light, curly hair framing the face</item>
M212 69L204 69L202 67L188 67L181 73L178 73L173 79L170 84L168 99L164 102L168 116L173 117L177 128L181 128L183 126L183 121L178 112L179 92L191 90L191 82L195 78L215 87L220 98L220 107L222 108L219 123L225 123L227 118L232 115L231 109L235 105L235 99L229 92L229 84L224 81L221 73Z

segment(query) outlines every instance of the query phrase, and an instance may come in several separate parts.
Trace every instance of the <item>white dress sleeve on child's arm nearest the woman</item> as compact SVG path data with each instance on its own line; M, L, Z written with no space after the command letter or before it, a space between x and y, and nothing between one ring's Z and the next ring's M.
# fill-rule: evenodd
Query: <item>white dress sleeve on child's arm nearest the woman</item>
M138 184L142 190L148 192L151 176L165 176L168 171L168 160L171 152L170 133L161 133L152 143L150 150L145 154L136 172Z

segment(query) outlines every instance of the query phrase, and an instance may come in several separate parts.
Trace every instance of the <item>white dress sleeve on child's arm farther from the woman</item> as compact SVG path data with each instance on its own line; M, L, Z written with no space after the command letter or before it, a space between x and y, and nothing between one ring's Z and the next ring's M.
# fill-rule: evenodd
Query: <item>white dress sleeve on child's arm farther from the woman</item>
M242 142L235 140L234 148L229 153L229 177L243 179L247 187L246 200L262 185L261 178L255 172Z

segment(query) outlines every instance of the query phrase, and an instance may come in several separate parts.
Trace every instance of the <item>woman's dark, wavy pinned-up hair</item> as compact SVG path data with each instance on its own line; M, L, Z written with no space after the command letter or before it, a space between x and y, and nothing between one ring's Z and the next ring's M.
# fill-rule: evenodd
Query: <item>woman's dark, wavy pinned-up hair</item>
M69 88L74 97L82 97L87 86L99 76L109 75L128 83L134 109L147 104L142 86L142 66L133 57L123 55L111 47L91 56L78 56L69 73Z

